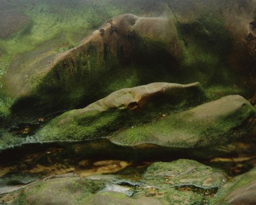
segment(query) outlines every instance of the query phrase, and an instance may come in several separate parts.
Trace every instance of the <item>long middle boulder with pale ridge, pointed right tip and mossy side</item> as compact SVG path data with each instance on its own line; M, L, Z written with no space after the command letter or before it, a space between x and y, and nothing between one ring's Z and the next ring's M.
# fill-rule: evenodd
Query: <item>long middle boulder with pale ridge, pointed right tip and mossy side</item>
M82 140L106 137L114 131L136 126L169 114L204 98L199 83L179 85L152 83L122 89L84 109L66 112L37 132L42 141Z

